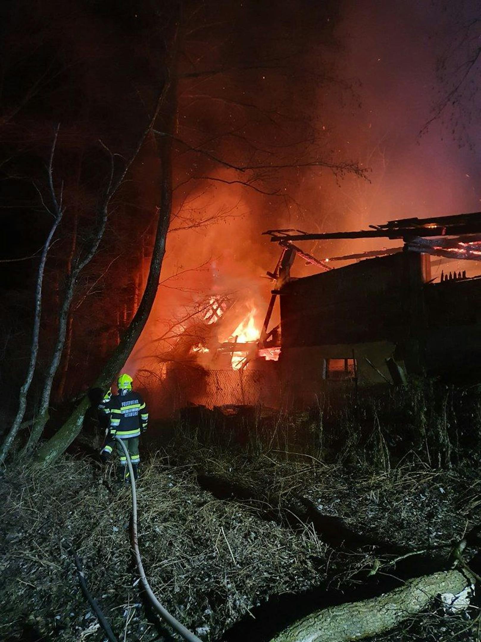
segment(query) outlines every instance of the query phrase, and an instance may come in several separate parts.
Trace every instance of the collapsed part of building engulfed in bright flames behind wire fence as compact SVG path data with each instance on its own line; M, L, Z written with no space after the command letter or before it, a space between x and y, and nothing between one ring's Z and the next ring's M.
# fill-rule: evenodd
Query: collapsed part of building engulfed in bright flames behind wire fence
M172 415L189 404L278 406L275 361L280 347L260 345L265 311L245 292L209 295L187 309L184 317L160 337L162 349L140 356L137 376L155 390L152 407Z

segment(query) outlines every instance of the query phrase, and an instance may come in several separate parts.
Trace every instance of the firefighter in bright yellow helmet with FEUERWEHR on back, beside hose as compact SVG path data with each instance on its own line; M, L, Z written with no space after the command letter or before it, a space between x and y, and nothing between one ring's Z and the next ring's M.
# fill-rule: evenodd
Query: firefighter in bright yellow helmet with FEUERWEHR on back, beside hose
M147 406L139 392L132 390L132 377L126 373L121 374L117 379L119 392L112 395L110 401L105 404L103 412L110 416L110 426L106 437L106 444L101 452L101 459L106 462L112 455L114 444L119 455L120 465L117 469L119 480L129 482L129 470L127 458L121 444L115 440L120 437L127 447L132 462L133 476L139 476L139 437L140 432L144 433L149 421Z

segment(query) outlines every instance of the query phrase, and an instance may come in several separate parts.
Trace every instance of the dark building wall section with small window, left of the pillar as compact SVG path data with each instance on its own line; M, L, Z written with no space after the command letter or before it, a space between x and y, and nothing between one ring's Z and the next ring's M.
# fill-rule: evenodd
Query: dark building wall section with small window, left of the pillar
M283 388L400 383L421 369L428 257L400 252L286 282L279 290Z

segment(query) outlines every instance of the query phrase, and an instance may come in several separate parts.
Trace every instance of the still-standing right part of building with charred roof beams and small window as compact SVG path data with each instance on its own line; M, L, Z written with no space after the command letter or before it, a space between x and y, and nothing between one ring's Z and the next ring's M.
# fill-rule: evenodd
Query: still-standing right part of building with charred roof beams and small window
M473 232L480 223L480 214L470 214L346 232L348 238L403 238L405 245L380 250L385 256L369 252L357 263L334 270L325 263L321 273L285 279L276 290L284 403L312 403L326 385L396 384L409 374L479 380L481 277L459 271L432 278L431 257L479 260L481 240ZM283 247L334 236L271 234ZM424 234L442 238L432 241Z

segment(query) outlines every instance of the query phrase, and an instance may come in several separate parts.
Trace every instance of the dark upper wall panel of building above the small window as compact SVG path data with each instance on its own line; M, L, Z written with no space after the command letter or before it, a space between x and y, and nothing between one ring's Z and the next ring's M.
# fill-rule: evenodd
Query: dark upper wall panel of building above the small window
M367 259L288 282L280 290L282 347L392 340L425 325L426 257Z

